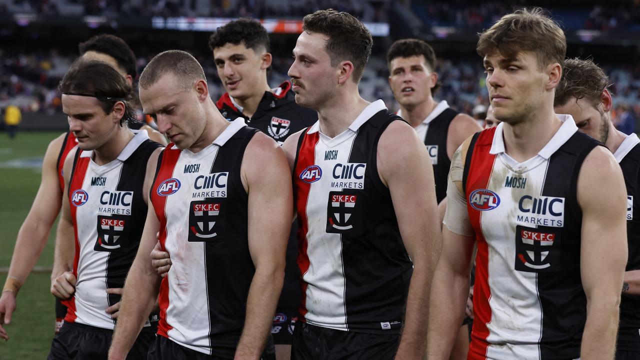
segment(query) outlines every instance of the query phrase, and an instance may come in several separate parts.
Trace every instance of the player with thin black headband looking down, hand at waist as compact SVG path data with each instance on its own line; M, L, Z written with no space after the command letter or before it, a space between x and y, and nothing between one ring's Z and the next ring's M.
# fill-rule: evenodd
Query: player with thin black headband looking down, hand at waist
M68 311L47 359L106 359L120 295L147 213L161 145L124 126L134 117L131 86L110 65L79 59L60 83L78 141L64 164L65 199L56 234L51 292ZM113 311L108 311L113 309ZM156 330L148 318L129 359L144 359Z

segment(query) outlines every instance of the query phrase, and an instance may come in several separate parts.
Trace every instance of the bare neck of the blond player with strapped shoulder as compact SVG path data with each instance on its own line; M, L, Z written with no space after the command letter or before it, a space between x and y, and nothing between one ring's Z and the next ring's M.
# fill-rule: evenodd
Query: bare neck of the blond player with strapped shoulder
M522 163L536 156L556 134L563 122L552 107L541 108L516 124L504 124L504 149Z

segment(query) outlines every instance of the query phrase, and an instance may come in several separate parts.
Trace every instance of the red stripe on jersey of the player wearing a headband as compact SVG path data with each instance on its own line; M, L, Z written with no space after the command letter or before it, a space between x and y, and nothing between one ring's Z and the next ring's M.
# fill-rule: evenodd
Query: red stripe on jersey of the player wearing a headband
M75 145L74 145L75 146ZM77 152L81 152L80 149ZM67 199L69 201L69 208L71 211L71 222L74 225L74 238L76 238L76 254L74 255L74 276L78 277L78 262L80 260L80 242L78 240L78 224L76 220L77 206L74 205L74 192L82 189L84 183L84 176L86 176L86 169L89 167L91 158L78 158L72 169L72 178L69 180L69 191L67 193ZM65 316L65 322L76 321L76 295L71 299L63 300L62 304L67 306L67 316Z

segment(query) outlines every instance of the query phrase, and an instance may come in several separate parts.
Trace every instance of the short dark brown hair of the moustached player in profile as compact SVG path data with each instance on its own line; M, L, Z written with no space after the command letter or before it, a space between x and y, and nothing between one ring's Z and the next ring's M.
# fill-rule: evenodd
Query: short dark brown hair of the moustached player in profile
M318 10L305 16L302 21L303 31L329 37L325 49L332 66L344 60L353 63L352 79L358 83L371 56L373 38L369 29L353 15L333 9Z

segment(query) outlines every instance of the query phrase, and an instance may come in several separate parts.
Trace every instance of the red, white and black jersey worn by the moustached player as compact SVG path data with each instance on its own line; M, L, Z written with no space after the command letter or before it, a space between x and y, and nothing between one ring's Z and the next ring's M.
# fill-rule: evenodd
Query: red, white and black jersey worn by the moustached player
M369 104L329 138L319 123L300 136L294 166L300 314L312 325L397 333L412 262L376 164L378 140L400 117Z

